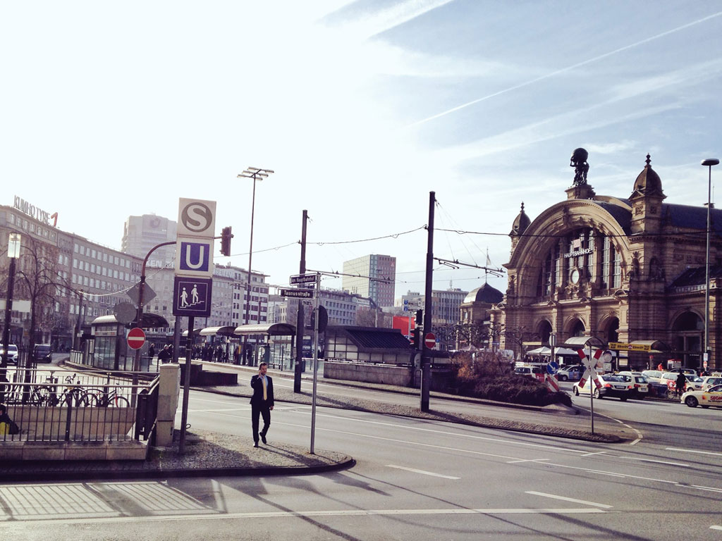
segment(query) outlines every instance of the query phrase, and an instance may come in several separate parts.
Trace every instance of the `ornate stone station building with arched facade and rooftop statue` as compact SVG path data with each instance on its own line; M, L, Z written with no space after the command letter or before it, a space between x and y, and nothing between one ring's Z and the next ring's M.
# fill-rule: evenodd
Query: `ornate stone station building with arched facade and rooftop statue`
M587 183L586 156L575 151L576 175L563 201L534 219L521 204L504 265L508 289L492 319L542 345L552 333L560 346L582 336L666 344L630 347L628 366L656 367L674 358L701 369L709 261L708 369L722 368L722 210L711 208L707 260L707 208L666 201L649 155L641 172L630 175L630 193L617 196L597 195ZM504 347L522 347L508 342Z

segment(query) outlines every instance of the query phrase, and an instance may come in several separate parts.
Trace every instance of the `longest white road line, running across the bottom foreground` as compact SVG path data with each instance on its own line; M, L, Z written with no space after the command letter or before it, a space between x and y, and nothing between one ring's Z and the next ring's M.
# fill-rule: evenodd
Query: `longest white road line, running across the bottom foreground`
M503 515L503 514L595 514L607 513L601 509L342 509L339 511L256 511L251 513L227 513L214 515L165 515L165 516L118 516L99 519L32 519L3 521L0 529L27 527L28 524L118 524L128 522L161 522L181 520L222 520L222 519L281 519L308 516L399 516L399 515Z

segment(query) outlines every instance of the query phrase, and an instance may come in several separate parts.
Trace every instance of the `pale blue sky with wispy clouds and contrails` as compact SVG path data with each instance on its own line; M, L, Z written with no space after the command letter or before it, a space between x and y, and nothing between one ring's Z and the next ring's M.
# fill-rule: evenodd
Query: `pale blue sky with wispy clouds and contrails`
M690 205L722 154L720 1L28 0L0 7L0 49L0 204L119 249L128 216L217 201L234 239L214 262L247 268L237 175L273 170L252 267L279 286L304 209L308 269L393 255L401 296L424 289L432 191L434 256L503 270L521 203L566 198L575 148L599 195L628 197L650 153ZM464 265L433 278L506 290Z

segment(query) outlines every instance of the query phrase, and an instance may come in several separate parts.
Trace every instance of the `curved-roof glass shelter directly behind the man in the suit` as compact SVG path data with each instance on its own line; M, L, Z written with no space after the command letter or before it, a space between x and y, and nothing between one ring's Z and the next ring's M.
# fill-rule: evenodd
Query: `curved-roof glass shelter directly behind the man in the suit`
M263 361L270 368L278 370L293 369L293 351L296 342L295 325L287 323L240 325L240 327L235 327L233 334L243 340L247 348L247 339L256 337L256 348L253 351L247 350L249 354L247 358L248 364L256 366Z

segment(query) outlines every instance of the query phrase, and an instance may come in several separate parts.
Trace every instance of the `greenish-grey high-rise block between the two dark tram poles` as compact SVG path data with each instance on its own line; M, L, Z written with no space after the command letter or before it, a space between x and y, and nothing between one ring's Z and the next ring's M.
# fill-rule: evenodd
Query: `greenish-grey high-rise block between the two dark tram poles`
M391 255L363 255L344 261L342 287L351 294L365 296L379 307L392 307L396 283L396 258Z

